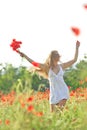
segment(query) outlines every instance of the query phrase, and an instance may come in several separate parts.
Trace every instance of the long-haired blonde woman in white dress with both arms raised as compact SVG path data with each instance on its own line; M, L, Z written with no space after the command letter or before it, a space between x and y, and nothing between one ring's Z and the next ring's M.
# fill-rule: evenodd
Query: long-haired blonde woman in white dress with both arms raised
M78 49L80 42L76 41L76 49L74 58L65 63L58 63L60 55L58 51L53 50L45 63L36 63L27 55L19 51L20 56L25 57L31 64L36 66L36 70L46 76L50 83L50 111L54 111L54 106L58 105L60 108L65 106L67 99L69 99L69 90L64 82L64 70L73 65L78 58Z

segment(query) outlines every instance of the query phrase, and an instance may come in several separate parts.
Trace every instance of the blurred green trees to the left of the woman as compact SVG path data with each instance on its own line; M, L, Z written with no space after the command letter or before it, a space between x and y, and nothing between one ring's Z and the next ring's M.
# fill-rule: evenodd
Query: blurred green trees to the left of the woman
M28 69L24 66L16 68L13 67L12 64L1 64L0 90L3 91L3 93L10 92L12 88L16 89L16 86L19 86L19 81L21 81L21 91L25 87L37 91L40 84L44 84L44 86L49 87L47 79L39 77L38 74L28 71Z

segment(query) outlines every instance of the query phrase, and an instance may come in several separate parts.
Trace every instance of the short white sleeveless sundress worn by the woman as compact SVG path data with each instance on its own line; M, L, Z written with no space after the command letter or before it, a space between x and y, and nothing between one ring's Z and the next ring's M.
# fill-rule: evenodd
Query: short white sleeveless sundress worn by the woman
M64 71L61 66L58 74L55 74L52 69L49 70L50 104L57 104L62 99L69 99L69 89L63 75Z

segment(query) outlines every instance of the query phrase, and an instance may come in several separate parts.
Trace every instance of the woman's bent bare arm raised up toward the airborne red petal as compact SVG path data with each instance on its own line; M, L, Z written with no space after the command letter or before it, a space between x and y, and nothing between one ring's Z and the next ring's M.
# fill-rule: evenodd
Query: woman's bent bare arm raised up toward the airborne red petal
M77 41L76 42L76 49L75 49L75 55L74 55L74 58L66 63L63 63L61 66L63 69L67 68L67 67L70 67L71 65L73 65L77 59L78 59L78 52L79 52L79 46L80 46L80 42Z

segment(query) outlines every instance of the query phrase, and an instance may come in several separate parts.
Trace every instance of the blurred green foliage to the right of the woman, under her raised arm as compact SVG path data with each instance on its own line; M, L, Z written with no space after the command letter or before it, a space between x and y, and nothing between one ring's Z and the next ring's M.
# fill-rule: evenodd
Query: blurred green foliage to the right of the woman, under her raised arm
M64 79L68 86L71 86L72 89L76 89L79 87L79 82L81 80L84 81L81 84L81 87L87 87L87 82L85 82L85 78L87 77L87 61L86 59L81 60L74 67L71 67L65 71Z

